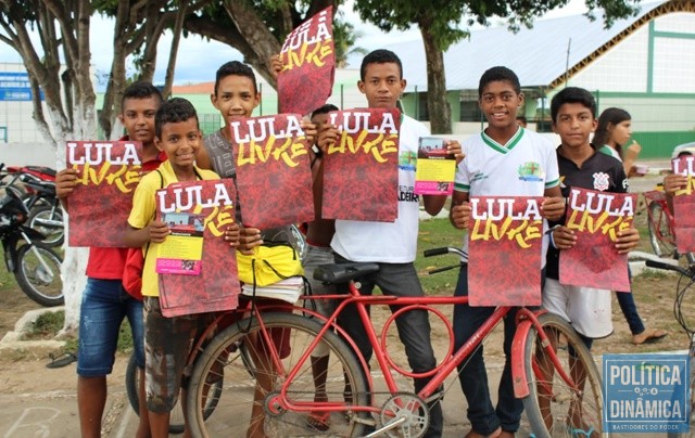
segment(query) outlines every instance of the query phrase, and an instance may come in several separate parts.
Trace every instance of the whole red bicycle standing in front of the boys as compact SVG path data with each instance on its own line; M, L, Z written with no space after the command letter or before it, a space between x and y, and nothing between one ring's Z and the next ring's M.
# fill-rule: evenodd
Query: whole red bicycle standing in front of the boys
M456 248L426 252L440 254L462 253ZM324 266L315 278L349 283L348 295L305 296L302 306L257 304L251 311L239 310L239 314L247 312L245 318L218 333L202 350L202 345L197 346L187 398L193 436L240 436L253 424L261 424L264 435L271 437L358 437L366 426L375 429L369 437L422 436L429 424L428 404L442 401L440 386L511 308L495 309L454 351L453 327L441 308L466 304L468 297L361 296L353 279L378 269L376 263ZM339 302L336 311L324 318L312 310L316 299ZM377 362L374 368L379 370L376 375L336 322L349 304L356 306L365 324ZM371 306L395 306L397 310L377 328L369 318ZM395 318L414 309L425 309L441 320L448 335L443 359L421 374L406 370L397 355L401 343L394 340L397 335L393 333ZM567 347L555 348L558 339ZM241 346L249 353L245 360L238 353ZM317 375L313 365L318 349L321 355L328 352L329 364ZM519 309L511 360L515 395L523 399L536 437L603 433L601 376L591 353L566 321L542 310ZM222 391L211 391L211 385L223 377ZM416 394L409 382L413 377L431 379ZM211 398L215 398L213 412L208 409ZM308 428L307 417L316 412L329 414L325 430Z

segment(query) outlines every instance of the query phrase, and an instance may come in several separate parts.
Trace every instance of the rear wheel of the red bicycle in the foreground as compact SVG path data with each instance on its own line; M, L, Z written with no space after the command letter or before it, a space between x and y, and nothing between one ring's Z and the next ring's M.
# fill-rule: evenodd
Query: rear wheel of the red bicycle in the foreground
M323 345L329 351L328 365L314 376L314 361L309 358L300 363L299 360L316 338L321 324L299 314L267 313L263 315L263 325L264 328L256 318L252 318L225 328L195 361L187 403L192 435L242 436L250 427L262 427L267 437L359 436L363 424L357 417L366 418L367 414L364 412L346 410L331 413L323 417L321 426L325 427L319 430L309 428L307 412L285 411L269 402L280 389L287 390L287 399L291 403L312 402L316 387L320 386L316 382L323 381L325 391L321 392L329 403L366 405L365 378L348 345L334 333L327 332L323 337ZM264 334L271 336L273 342L261 340ZM241 345L247 347L250 362L242 355L236 353ZM280 366L270 366L270 357L280 358ZM205 400L205 387L223 370L226 383L224 394L217 400L215 412L204 420L201 405L208 402ZM298 371L295 377L292 382L287 382L287 376L293 370ZM250 371L253 377L250 376ZM258 402L254 403L254 399Z

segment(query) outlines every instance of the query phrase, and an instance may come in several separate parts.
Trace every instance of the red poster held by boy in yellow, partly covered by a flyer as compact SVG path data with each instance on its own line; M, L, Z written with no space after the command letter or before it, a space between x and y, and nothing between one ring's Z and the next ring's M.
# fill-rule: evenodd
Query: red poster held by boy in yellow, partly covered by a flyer
M187 181L156 192L157 217L204 218L199 275L160 273L160 302L167 318L236 309L241 288L235 248L225 241L235 221L237 193L231 179Z

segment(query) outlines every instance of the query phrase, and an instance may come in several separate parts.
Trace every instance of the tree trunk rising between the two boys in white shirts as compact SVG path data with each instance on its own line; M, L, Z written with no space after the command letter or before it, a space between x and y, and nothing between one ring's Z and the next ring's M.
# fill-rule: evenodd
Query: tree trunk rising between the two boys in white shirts
M446 99L444 54L429 26L420 22L420 34L427 60L427 110L432 133L452 133L452 108Z

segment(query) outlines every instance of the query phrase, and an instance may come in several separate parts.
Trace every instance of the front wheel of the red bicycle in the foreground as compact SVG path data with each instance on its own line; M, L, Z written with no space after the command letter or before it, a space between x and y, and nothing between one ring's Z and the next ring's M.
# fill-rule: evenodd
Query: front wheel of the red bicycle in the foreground
M560 317L545 313L539 322L551 339L567 340L556 355L568 384L553 366L538 332L526 342L525 364L530 395L523 399L531 428L538 438L601 437L603 433L602 382L596 364L577 332Z

